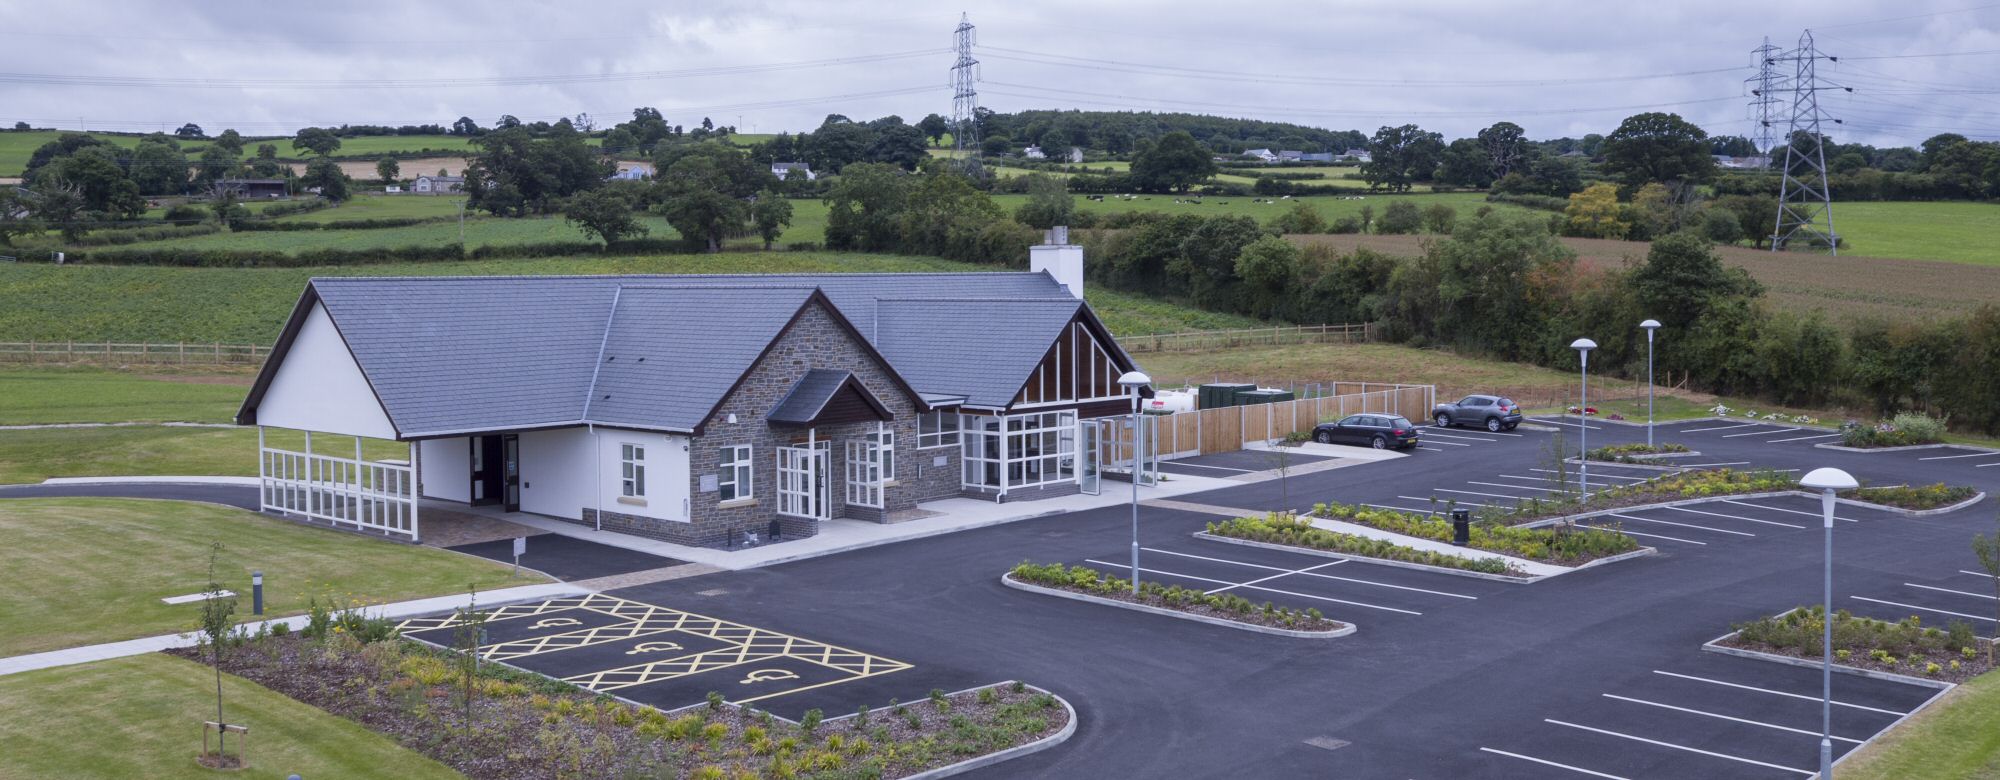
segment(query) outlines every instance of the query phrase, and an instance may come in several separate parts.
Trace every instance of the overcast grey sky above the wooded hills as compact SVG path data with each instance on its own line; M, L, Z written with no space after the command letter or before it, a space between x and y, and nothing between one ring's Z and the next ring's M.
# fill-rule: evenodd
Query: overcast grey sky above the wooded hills
M1846 120L1836 140L2000 138L2000 4L1976 0L0 0L0 122L282 134L588 112L602 128L632 106L744 132L810 130L828 112L914 122L950 116L958 10L978 26L980 104L1002 112L1416 122L1448 138L1512 120L1556 138L1670 110L1748 134L1750 50L1764 36L1792 48L1810 26L1842 58L1820 76L1856 88L1822 102ZM1912 56L1944 52L1988 54Z

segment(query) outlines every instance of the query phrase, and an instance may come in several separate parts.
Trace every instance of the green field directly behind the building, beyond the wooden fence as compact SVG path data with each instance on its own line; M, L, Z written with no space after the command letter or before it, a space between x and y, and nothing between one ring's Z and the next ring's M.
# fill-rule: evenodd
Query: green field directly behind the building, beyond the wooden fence
M320 234L316 230L312 234ZM358 232L358 230L356 230ZM380 230L370 230L380 232ZM342 232L330 232L342 234ZM278 234L296 236L296 234ZM410 262L328 268L152 268L0 264L0 340L270 344L312 276L428 274L800 274L998 270L940 258L842 252L722 252L634 258ZM1114 330L1242 328L1152 298L1090 292Z

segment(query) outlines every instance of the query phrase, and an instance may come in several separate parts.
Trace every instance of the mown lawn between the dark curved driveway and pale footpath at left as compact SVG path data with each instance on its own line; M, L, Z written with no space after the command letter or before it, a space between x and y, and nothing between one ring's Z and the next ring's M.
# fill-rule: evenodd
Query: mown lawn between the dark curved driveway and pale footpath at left
M264 614L302 614L306 600L400 602L548 582L456 552L308 528L228 506L142 498L0 500L0 534L34 540L0 572L0 656L188 632L208 546L222 542L218 580L250 614L250 572L264 572Z

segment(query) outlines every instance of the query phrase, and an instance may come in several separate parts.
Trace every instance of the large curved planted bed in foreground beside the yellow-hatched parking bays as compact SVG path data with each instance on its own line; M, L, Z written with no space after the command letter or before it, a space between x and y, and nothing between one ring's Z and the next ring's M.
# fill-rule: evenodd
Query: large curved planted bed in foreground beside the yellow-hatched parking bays
M170 650L202 660L206 650ZM866 716L798 722L724 706L666 712L480 664L466 722L460 656L406 640L248 638L222 668L388 734L474 778L898 778L1060 732L1068 710L1022 684Z

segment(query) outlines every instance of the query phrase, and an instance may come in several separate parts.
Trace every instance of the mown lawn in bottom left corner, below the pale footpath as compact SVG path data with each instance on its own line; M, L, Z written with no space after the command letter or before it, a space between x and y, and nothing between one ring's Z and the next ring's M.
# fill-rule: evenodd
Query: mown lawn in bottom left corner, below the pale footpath
M214 672L166 654L0 678L8 778L124 780L230 776L194 764L216 718ZM458 778L362 724L224 674L224 716L250 726L244 778ZM234 746L232 746L234 750Z

